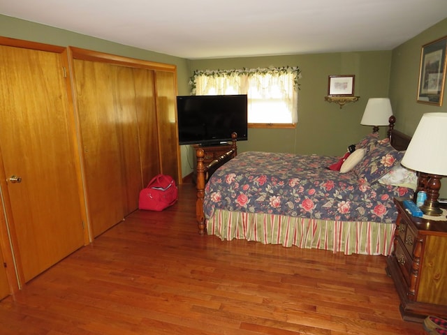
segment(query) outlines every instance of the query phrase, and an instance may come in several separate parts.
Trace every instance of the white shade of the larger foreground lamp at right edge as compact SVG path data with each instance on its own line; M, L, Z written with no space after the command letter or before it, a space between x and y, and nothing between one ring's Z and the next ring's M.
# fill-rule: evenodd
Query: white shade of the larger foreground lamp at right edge
M447 176L447 113L425 113L420 119L402 165L411 170Z

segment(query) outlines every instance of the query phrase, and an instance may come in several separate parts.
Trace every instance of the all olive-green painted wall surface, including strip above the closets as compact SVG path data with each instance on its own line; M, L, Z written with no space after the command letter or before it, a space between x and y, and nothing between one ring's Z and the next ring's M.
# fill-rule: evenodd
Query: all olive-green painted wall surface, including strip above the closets
M447 103L442 107L416 103L420 47L445 36L446 31L447 19L434 24L392 51L187 60L0 15L0 36L52 45L71 45L124 57L175 64L180 95L189 94L189 77L196 69L300 66L302 79L297 127L249 129L249 140L239 143L240 151L263 150L334 156L342 156L349 144L357 142L371 131L371 127L360 125L368 98L389 96L397 118L396 128L409 135L415 131L423 113L447 112ZM334 103L325 102L329 75L356 75L355 94L360 96L360 100L349 103L342 109ZM385 128L381 127L382 136L385 135ZM441 144L437 145L441 152ZM192 160L191 148L182 146L183 176L192 171ZM447 186L444 186L441 194L447 197L446 193Z

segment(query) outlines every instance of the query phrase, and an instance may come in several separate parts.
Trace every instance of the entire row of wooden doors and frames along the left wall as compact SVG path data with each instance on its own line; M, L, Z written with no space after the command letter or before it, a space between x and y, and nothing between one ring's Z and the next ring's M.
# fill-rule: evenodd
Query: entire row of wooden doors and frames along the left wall
M2 37L0 64L1 299L182 176L176 66Z

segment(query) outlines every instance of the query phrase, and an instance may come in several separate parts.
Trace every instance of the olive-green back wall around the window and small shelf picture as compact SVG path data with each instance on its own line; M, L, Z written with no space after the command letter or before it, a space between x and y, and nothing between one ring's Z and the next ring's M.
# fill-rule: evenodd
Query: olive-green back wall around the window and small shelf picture
M302 79L298 93L298 125L295 129L249 128L249 140L240 151L278 151L295 154L342 156L349 144L372 131L360 119L368 98L387 97L391 51L293 54L276 57L196 59L193 70L299 66ZM329 75L356 75L355 91L360 100L340 109L328 103ZM384 129L383 129L384 131Z

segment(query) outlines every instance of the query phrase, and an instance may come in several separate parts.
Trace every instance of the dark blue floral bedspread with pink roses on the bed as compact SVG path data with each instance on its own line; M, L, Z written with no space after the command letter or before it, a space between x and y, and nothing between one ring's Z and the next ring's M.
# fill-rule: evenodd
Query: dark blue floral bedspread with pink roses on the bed
M394 223L394 197L413 190L360 183L354 172L327 167L339 158L261 151L239 154L221 166L205 187L205 217L214 209L263 212L337 221Z

